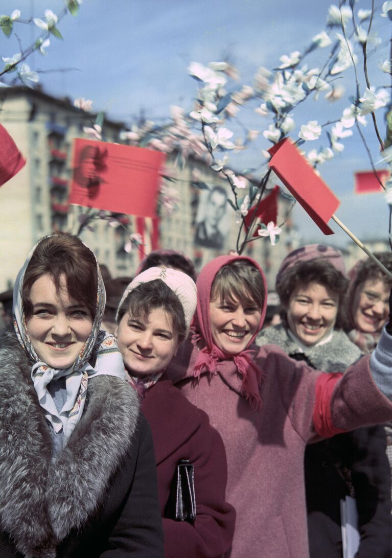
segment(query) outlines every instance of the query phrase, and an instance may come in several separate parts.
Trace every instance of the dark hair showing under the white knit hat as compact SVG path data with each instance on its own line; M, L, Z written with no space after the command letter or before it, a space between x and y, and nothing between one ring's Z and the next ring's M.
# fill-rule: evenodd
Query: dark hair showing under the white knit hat
M118 309L117 324L126 312L133 318L140 318L159 308L171 316L173 329L178 333L178 340L181 343L187 336L184 309L175 292L160 279L140 283L128 294Z

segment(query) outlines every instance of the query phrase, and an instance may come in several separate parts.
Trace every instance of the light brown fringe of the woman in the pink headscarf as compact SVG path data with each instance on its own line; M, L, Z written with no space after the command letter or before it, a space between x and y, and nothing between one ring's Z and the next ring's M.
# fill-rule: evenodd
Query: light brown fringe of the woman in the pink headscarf
M265 299L264 282L259 270L246 259L236 259L221 267L211 287L211 300L233 300L260 309Z

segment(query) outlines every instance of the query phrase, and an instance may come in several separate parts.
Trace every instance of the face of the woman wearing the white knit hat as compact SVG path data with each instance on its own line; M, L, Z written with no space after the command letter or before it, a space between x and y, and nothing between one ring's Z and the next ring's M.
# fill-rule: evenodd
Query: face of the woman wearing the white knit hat
M144 316L126 312L114 335L124 364L133 376L145 376L166 368L178 347L169 312L156 308Z

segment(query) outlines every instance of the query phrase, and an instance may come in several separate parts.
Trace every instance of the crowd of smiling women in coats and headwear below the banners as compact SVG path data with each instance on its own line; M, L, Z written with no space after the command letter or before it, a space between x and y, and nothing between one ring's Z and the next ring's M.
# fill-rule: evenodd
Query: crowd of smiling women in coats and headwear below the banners
M196 277L163 250L102 275L54 233L2 315L0 556L342 558L352 498L355 556L391 557L392 284L374 262L289 253L267 325L250 257Z

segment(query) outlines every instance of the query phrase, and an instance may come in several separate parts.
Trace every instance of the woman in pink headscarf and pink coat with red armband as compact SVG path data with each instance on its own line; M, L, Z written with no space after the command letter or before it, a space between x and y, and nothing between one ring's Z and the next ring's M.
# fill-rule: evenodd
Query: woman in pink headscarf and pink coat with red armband
M306 558L305 445L392 416L392 336L383 333L371 369L365 357L343 377L317 372L274 345L254 344L267 292L254 260L219 256L197 287L197 345L168 372L226 446L226 498L237 511L231 556Z

